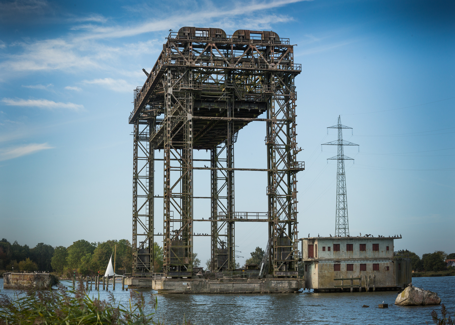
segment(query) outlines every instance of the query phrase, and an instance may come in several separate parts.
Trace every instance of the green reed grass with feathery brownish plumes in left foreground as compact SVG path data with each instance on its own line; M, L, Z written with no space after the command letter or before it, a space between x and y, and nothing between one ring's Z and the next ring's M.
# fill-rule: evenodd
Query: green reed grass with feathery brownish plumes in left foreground
M130 291L128 305L109 299L91 298L84 284L76 289L30 290L14 295L0 294L0 325L160 325L152 320L154 313L144 311L142 293ZM155 298L154 309L157 309Z

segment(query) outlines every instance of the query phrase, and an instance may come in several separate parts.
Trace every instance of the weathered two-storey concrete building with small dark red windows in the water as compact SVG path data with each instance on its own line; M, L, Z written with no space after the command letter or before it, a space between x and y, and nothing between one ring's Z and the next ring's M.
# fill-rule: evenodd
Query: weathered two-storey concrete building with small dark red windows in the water
M401 237L311 237L302 242L305 288L316 292L399 290L411 282L411 260L394 253ZM352 280L351 280L352 278Z

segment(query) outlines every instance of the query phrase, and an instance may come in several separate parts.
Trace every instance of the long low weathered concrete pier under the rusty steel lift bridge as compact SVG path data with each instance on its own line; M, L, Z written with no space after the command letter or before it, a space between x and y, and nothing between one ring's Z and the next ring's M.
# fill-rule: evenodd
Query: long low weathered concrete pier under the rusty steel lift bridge
M152 288L159 294L297 292L303 279L126 279L130 288Z

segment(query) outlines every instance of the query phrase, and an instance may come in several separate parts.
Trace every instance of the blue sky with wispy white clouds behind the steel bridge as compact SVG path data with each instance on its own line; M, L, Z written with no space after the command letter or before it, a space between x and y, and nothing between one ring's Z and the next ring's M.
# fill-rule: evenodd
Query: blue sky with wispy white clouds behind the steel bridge
M296 44L299 238L334 235L336 147L321 144L336 140L327 127L340 115L359 144L345 148L351 236L401 234L395 250L454 253L454 14L438 0L0 1L0 238L131 241L133 89L169 29L197 26ZM265 166L264 136L263 122L239 132L236 168ZM266 174L235 179L236 211L267 211ZM195 173L195 195L209 183ZM208 209L195 203L195 215ZM240 264L265 249L266 228L236 225ZM203 262L209 247L195 238Z

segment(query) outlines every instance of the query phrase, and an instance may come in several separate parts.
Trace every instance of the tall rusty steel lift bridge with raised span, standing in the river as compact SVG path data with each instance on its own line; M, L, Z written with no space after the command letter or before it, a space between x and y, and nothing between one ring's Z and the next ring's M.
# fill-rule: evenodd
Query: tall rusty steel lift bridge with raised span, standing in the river
M144 86L134 91L129 118L134 125L132 276L156 272L153 243L162 235L164 275L191 277L195 222L211 224L212 272L232 272L234 225L252 221L268 223L268 274L298 275L296 174L304 162L296 161L294 78L301 69L293 62L289 39L273 31L226 35L218 28L182 27L169 34L152 71L145 71ZM259 118L263 112L266 116ZM266 124L266 169L234 168L238 131L250 122ZM210 151L210 159L193 159L194 149ZM157 150L164 158L155 158ZM154 194L160 160L162 196ZM201 161L208 166L194 165ZM210 173L210 197L193 196L194 170ZM235 210L236 170L268 174L267 212ZM162 234L153 231L158 199L163 202ZM195 216L198 199L211 201L205 218Z

